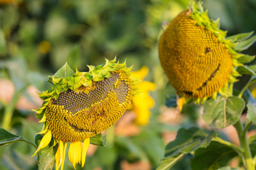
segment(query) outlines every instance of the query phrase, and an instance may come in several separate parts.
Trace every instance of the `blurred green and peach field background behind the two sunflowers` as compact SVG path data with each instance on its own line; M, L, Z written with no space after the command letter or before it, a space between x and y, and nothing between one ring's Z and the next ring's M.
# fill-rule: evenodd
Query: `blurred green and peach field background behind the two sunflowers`
M181 115L165 106L175 102L168 100L175 90L157 54L162 23L172 21L188 5L189 0L0 0L1 128L34 141L42 124L37 123L31 109L42 104L36 92L51 86L47 76L66 61L72 69L88 71L87 64L97 66L105 57L117 55L134 71L142 67L138 75L155 85L140 87L145 92L143 99L149 103L154 100L154 104L145 106L134 99L125 115L108 130L108 146L90 146L84 169L156 168L164 146L175 139L179 127L204 126L198 118L200 106L186 106ZM220 27L228 36L256 31L255 0L205 0L203 6L209 9L210 18L220 18ZM255 55L256 45L244 53ZM241 78L236 88L248 78ZM12 115L7 124L6 112ZM237 142L230 135L232 129L222 133ZM1 146L0 169L38 169L36 157L31 158L34 152L35 148L22 142ZM68 157L64 169L72 169ZM188 160L184 158L172 169L189 169Z

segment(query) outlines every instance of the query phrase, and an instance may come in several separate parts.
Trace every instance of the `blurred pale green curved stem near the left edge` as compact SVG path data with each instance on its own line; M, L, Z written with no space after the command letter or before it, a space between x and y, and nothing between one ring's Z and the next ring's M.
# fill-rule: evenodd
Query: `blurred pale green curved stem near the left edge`
M22 94L22 92L24 90L27 89L27 87L28 87L28 85L25 85L24 87L22 87L22 89L15 92L15 94L12 97L11 103L8 104L4 110L2 127L3 127L3 129L6 129L6 131L8 131L10 129L10 123L12 121L12 115L13 115L13 111L15 109L15 105L18 102L20 95Z

